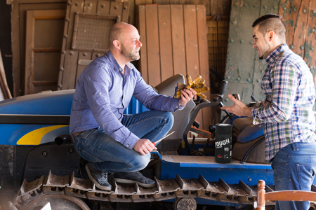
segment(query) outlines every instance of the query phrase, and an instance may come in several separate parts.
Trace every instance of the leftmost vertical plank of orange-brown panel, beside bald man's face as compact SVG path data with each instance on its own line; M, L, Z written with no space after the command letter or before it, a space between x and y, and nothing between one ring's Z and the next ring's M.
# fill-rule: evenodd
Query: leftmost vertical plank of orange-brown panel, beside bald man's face
M146 20L145 20L145 6L138 6L138 32L140 34L140 41L143 46L140 48L140 59L138 68L143 76L143 79L148 83L148 67L147 67L147 38L146 38Z

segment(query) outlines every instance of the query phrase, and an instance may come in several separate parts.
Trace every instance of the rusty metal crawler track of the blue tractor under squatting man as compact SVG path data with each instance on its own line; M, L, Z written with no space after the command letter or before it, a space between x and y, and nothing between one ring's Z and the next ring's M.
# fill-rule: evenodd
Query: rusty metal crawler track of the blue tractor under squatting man
M29 202L44 195L70 195L81 199L98 200L104 202L159 202L183 197L199 197L219 202L237 204L254 204L257 186L247 186L244 182L230 185L223 179L209 182L199 175L198 179L158 180L157 186L142 188L135 184L112 183L112 190L105 191L96 188L89 179L72 176L56 176L49 172L48 176L41 176L32 182L23 181L17 195L13 198L13 205L17 209L24 209ZM274 186L266 186L267 192L273 191ZM275 202L267 202L273 205Z

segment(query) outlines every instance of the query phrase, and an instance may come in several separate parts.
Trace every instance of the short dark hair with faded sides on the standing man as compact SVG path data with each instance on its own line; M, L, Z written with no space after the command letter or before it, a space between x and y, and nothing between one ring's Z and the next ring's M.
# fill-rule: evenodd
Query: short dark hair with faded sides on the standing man
M284 22L282 22L281 15L268 14L255 20L252 27L259 26L258 30L265 36L269 31L274 31L280 38L286 38L287 27L285 27Z

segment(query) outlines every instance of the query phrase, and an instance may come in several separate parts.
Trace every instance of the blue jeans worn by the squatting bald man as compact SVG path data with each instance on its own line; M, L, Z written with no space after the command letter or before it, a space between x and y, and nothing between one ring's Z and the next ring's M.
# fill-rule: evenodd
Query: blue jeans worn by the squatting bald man
M166 111L146 111L124 115L121 123L140 139L157 141L173 125L173 115ZM74 138L74 148L93 166L107 173L137 172L150 161L150 154L141 155L105 134L101 128L86 130Z

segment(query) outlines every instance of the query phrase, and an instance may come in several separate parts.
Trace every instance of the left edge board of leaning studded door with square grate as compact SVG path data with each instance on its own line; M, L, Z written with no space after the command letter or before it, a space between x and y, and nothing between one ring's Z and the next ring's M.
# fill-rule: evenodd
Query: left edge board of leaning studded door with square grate
M62 71L62 82L60 90L73 89L76 83L78 51L72 50L72 34L74 27L74 13L84 11L84 0L78 0L72 3L70 8L70 23L68 25L67 44L65 52L64 70Z

